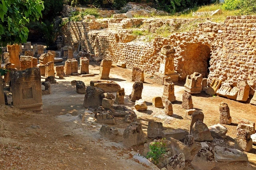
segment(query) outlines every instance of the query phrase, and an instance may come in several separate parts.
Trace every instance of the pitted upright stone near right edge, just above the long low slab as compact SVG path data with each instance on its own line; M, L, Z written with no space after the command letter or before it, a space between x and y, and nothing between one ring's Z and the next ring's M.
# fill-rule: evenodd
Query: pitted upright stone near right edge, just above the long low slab
M235 138L235 149L250 152L252 150L252 138L246 129L237 129Z

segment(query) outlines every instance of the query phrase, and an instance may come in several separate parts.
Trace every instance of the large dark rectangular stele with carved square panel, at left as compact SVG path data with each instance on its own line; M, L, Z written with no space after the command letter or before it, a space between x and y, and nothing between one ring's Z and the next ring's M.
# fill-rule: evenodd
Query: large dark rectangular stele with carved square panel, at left
M43 104L39 68L12 71L10 76L13 106L41 112Z

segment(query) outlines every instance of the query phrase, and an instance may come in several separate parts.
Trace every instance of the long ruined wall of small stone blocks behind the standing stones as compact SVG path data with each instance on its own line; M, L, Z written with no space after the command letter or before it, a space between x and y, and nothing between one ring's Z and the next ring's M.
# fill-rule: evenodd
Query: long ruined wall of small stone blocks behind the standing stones
M180 80L193 72L208 76L209 82L219 78L232 86L247 80L254 93L256 16L230 16L224 23L204 22L196 30L175 33L167 38L158 36L152 42L140 41L129 29L123 29L144 22L148 20L113 18L101 24L98 21L70 22L64 29L64 39L66 44L83 42L83 48L100 59L126 62L128 68L139 66L149 74L159 69L162 46L171 44L176 50L174 63ZM100 29L102 25L108 29Z

